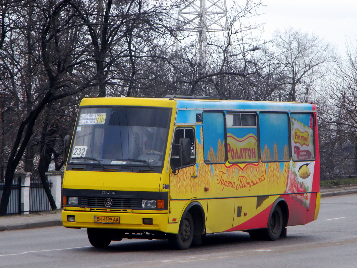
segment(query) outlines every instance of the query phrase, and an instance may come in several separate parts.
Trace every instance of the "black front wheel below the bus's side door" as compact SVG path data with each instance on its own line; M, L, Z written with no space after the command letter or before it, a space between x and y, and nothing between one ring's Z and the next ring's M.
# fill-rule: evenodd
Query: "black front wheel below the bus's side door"
M188 249L193 239L193 219L189 212L182 217L178 234L172 234L169 237L171 247L174 249Z

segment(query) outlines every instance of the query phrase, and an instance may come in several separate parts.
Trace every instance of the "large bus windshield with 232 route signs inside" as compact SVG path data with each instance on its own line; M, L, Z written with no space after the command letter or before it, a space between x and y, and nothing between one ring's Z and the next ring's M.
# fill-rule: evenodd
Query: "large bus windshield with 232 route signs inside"
M81 108L70 162L162 167L170 114L157 107Z

